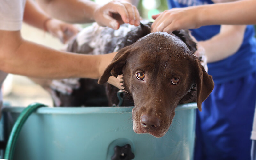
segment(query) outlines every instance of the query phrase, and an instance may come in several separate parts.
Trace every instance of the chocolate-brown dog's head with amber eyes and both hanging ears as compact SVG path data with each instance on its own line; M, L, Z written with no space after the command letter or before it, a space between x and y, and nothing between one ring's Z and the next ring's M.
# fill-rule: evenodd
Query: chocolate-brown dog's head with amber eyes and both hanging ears
M201 110L213 89L212 77L187 45L167 33L148 34L121 49L98 82L105 83L109 76L121 74L125 91L134 100L134 132L155 137L168 131L182 100L196 99Z

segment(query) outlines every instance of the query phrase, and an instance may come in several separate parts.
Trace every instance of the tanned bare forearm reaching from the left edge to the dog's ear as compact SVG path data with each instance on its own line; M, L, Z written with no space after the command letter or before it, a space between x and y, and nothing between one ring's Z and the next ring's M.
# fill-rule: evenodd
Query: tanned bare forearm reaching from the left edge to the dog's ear
M1 57L4 63L0 69L8 73L36 78L90 77L97 79L99 77L95 65L97 59L71 54L23 41L16 52L8 52L8 56ZM83 62L84 59L87 60Z

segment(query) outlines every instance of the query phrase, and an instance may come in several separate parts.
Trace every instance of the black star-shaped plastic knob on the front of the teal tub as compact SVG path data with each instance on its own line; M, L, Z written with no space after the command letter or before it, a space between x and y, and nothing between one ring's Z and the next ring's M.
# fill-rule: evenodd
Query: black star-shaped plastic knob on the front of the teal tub
M131 146L126 144L122 147L115 146L114 147L114 155L111 157L111 160L130 160L134 159L134 154L132 153Z

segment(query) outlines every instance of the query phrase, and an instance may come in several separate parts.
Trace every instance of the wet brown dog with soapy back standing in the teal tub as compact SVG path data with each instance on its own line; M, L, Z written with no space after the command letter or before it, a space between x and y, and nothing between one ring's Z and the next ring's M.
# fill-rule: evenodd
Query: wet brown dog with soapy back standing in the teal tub
M150 26L151 23L141 24L130 30L120 28L117 31L110 28L87 29L84 36L78 35L69 44L68 51L105 54L120 49L98 83L104 84L109 76L123 75L126 91L124 106L131 106L134 102L134 132L162 137L172 123L176 106L197 102L201 110L201 104L212 92L214 84L193 54L196 43L188 31L150 33ZM97 40L93 39L97 36ZM116 87L106 83L105 93L104 88L97 86L94 80L79 81L81 87L71 95L56 91L62 106L92 106L88 100L105 96L109 106L118 103Z

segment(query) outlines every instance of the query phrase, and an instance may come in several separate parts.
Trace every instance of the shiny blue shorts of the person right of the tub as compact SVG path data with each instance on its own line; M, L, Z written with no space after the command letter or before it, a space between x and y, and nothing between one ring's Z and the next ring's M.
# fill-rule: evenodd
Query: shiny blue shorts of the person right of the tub
M256 73L216 84L197 111L194 160L250 160Z

